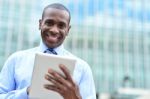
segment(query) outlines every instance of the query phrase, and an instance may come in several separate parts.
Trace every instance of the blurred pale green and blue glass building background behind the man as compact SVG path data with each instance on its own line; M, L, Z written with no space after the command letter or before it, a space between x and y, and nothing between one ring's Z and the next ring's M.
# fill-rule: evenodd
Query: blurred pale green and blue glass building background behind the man
M39 45L38 21L54 2L71 12L64 46L91 66L97 99L149 99L150 0L0 0L0 70Z

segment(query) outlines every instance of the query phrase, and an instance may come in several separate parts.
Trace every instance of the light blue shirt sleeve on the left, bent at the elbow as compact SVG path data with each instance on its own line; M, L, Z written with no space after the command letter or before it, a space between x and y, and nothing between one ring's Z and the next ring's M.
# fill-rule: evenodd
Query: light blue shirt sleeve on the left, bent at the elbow
M11 56L5 62L0 73L0 99L28 99L27 88L16 90L14 77L15 58Z

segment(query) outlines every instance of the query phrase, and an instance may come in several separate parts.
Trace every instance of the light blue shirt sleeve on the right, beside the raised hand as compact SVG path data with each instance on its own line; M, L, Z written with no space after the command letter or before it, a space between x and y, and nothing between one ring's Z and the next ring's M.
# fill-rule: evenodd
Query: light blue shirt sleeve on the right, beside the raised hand
M82 79L79 84L82 99L96 99L95 84L89 65L85 65Z

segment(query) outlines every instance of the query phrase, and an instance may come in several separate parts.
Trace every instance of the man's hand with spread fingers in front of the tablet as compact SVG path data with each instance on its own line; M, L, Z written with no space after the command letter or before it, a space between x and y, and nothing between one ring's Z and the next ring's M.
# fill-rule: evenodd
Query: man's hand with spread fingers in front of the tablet
M45 84L44 87L48 90L58 92L64 99L82 99L78 86L74 83L68 69L64 65L59 65L60 69L65 74L65 77L60 73L49 69L45 79L52 84Z

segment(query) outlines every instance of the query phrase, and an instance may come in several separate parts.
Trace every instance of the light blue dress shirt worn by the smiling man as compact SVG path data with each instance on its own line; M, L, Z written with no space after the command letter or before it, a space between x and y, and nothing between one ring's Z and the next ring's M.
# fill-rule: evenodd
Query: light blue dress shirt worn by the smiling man
M36 52L44 52L44 43L36 48L12 54L0 73L0 99L28 99L27 87L31 84ZM64 49L63 45L54 49L58 55L74 57L77 60L73 79L79 86L82 99L96 99L95 85L89 65Z

